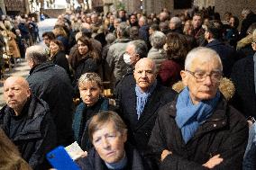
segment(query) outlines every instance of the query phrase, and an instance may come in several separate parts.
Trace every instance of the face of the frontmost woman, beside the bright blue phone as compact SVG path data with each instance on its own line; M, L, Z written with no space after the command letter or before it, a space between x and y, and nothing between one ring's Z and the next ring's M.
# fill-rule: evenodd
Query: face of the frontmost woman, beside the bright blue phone
M126 133L121 134L110 121L93 134L93 145L98 155L107 163L116 163L123 158Z

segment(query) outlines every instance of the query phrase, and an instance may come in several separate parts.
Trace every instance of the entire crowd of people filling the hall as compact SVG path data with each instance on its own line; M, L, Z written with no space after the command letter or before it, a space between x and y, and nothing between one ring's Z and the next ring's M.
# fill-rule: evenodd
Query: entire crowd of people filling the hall
M0 57L31 70L4 83L0 167L77 141L86 170L256 169L256 14L223 18L67 11L41 46L34 18L2 16Z

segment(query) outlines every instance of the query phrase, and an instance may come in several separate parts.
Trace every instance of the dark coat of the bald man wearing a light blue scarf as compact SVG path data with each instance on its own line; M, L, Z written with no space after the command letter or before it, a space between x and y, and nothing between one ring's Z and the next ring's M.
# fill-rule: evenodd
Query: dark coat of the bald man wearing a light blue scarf
M157 112L161 106L169 103L174 98L174 92L162 85L157 85L148 99L142 115L138 120L136 111L135 79L133 75L123 77L119 86L117 96L120 109L120 116L128 128L128 141L144 154L148 149L147 143L151 137L151 130L154 127Z

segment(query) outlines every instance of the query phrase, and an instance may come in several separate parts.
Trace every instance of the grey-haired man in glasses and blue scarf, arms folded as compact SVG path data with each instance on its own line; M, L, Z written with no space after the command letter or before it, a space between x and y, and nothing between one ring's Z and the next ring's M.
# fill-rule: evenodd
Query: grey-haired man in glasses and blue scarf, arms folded
M213 49L187 54L185 88L160 109L149 141L160 169L242 169L248 123L219 91L222 70Z

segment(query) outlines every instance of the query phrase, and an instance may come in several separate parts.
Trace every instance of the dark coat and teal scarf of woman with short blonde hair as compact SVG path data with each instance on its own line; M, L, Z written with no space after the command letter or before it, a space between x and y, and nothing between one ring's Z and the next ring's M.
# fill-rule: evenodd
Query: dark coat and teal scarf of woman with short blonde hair
M80 103L74 114L73 131L74 139L78 141L78 145L83 150L92 148L92 144L88 135L88 124L90 119L96 115L97 112L114 111L114 106L109 104L107 98L100 98L93 106L88 107L85 103Z

